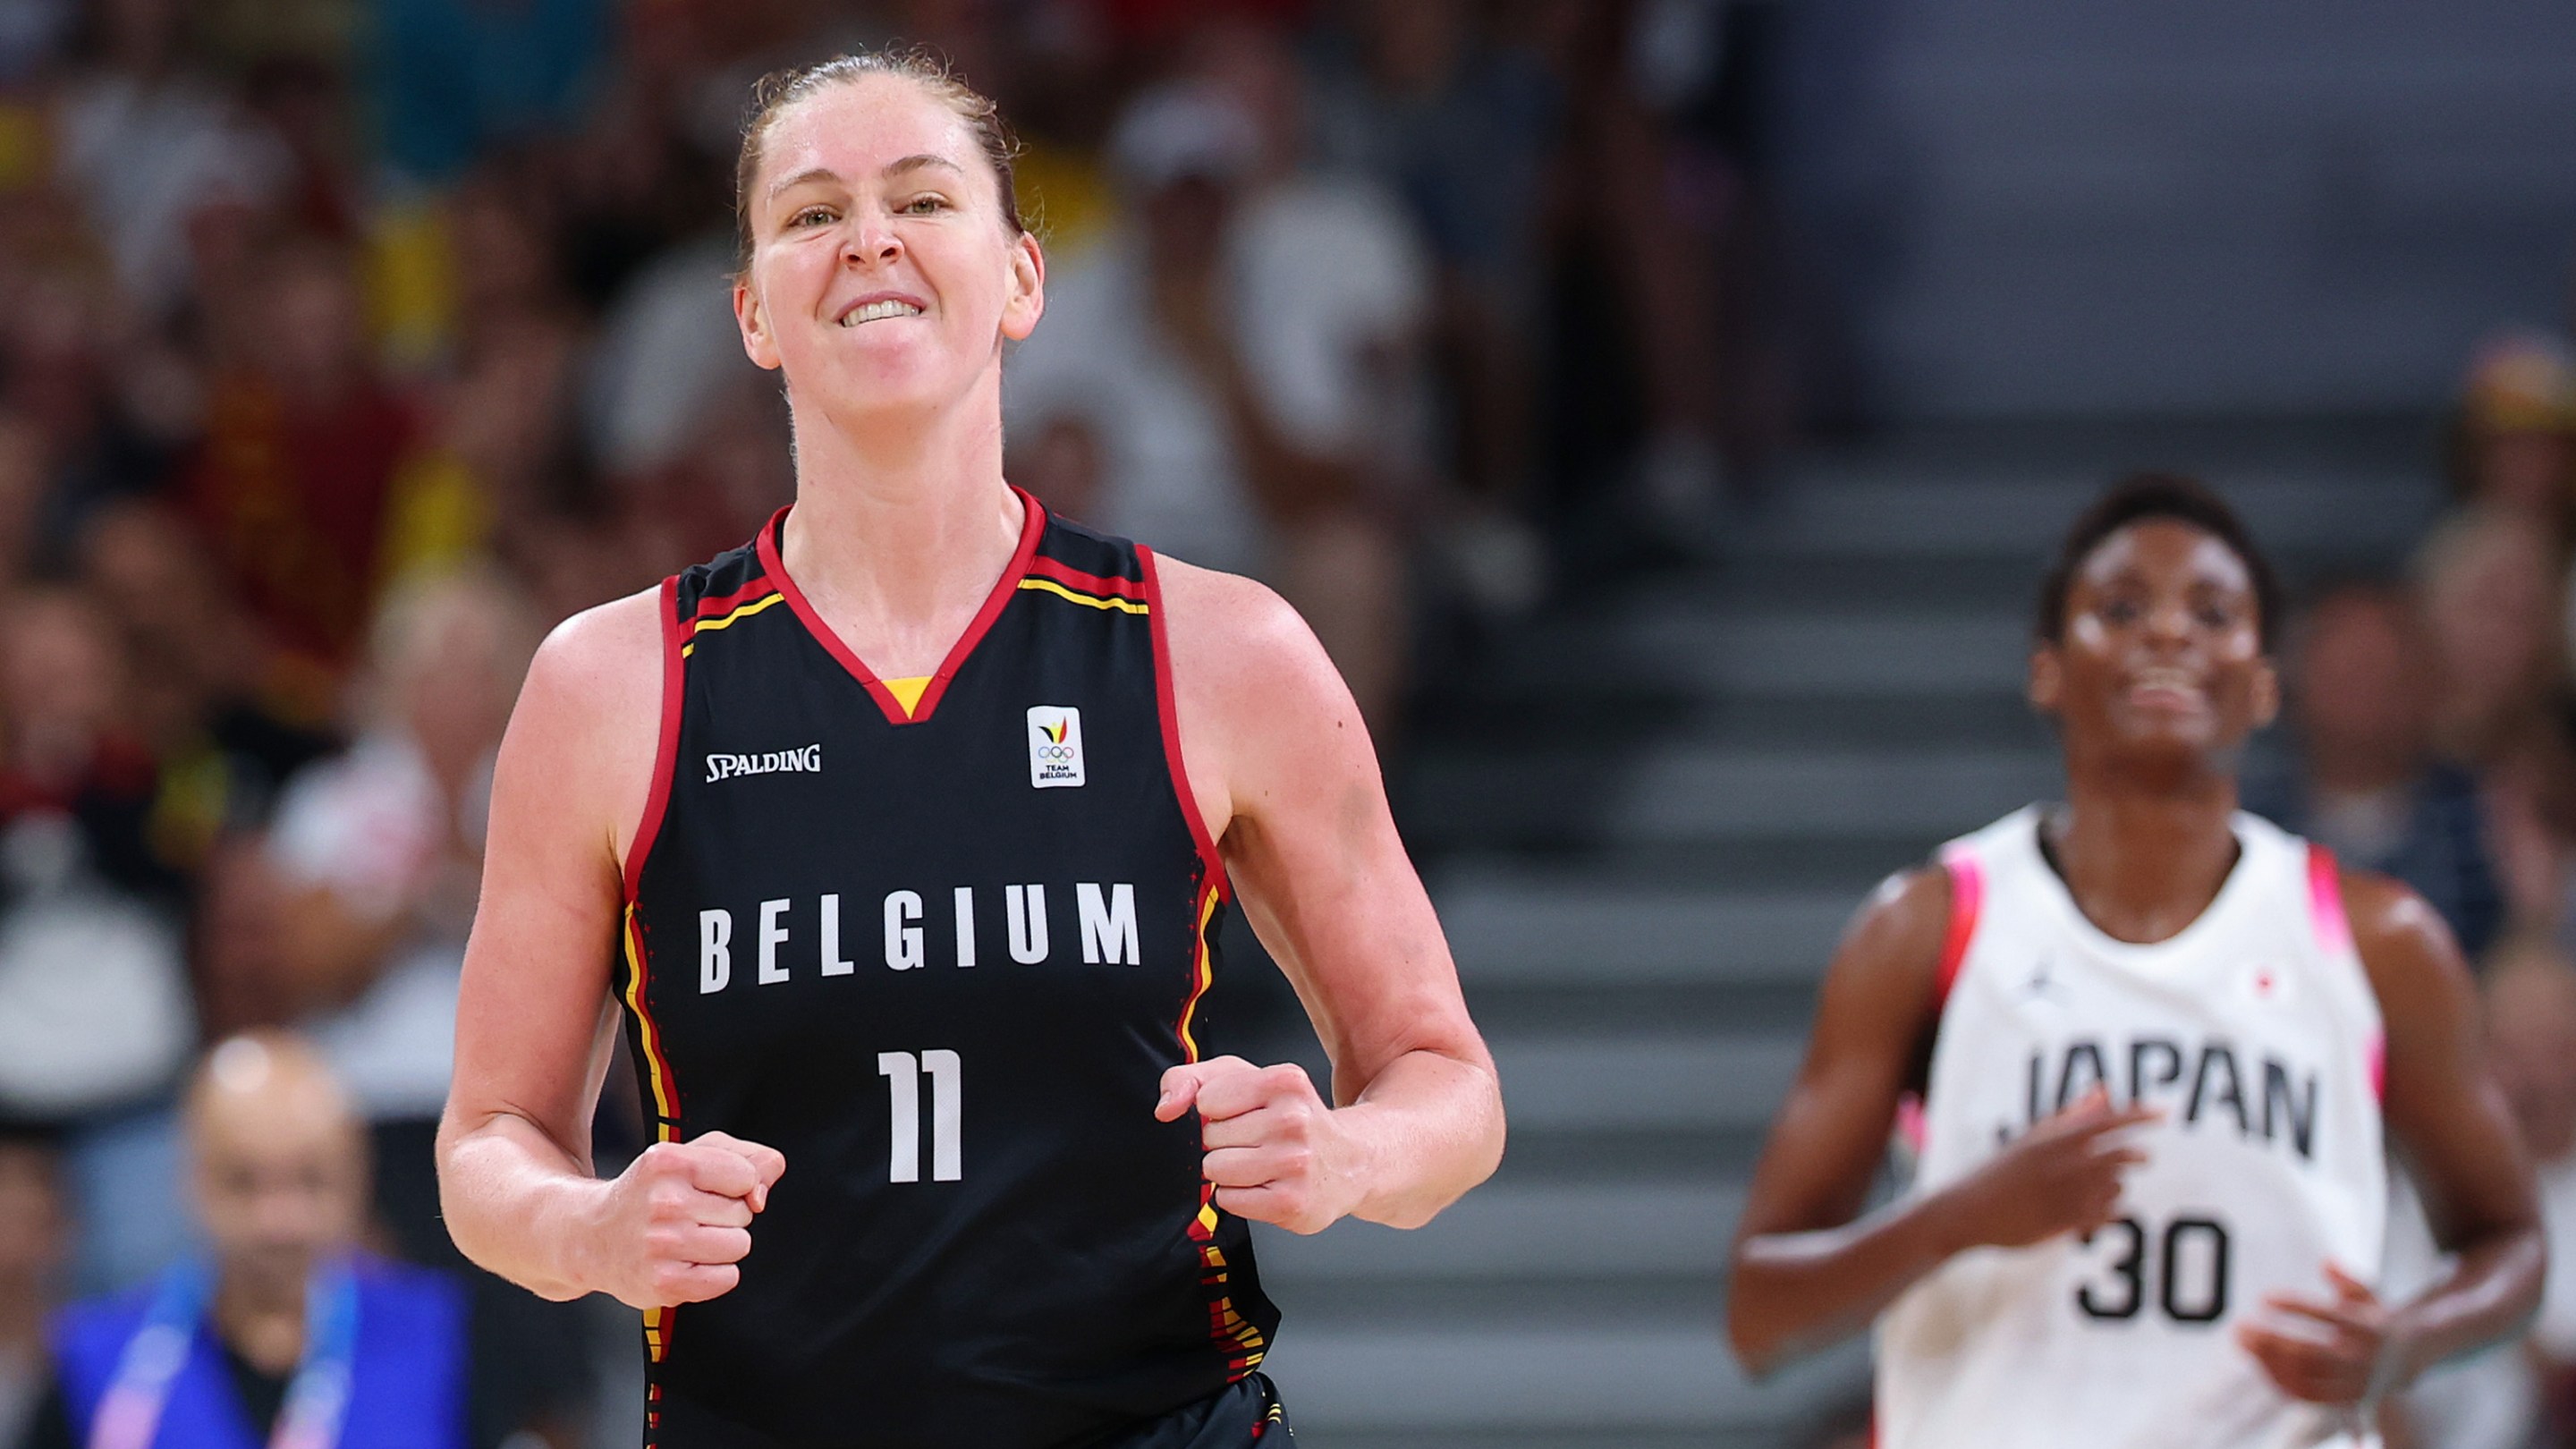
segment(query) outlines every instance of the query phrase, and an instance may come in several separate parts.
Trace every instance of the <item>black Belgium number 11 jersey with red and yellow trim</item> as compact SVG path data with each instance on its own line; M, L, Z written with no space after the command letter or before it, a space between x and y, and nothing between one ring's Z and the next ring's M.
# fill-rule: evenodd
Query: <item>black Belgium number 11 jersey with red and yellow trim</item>
M1059 1449L1213 1395L1278 1325L1198 1122L1226 877L1154 559L1028 523L886 681L760 539L662 585L616 972L662 1140L786 1152L742 1284L647 1315L649 1444Z

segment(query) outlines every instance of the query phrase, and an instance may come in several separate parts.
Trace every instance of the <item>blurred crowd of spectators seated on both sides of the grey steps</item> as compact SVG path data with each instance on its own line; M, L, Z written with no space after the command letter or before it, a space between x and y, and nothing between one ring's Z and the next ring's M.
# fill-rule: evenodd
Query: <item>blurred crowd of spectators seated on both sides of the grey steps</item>
M1765 191L1777 10L0 5L0 1449L41 1431L46 1315L214 1230L211 1042L312 1042L366 1243L464 1269L430 1134L518 678L791 495L726 297L757 75L907 39L1002 101L1051 266L1010 474L1270 580L1399 740L1443 639L1703 552L1832 410ZM2452 467L2414 570L2290 634L2300 768L2257 804L2452 918L2576 1245L2563 343L2476 358ZM631 1315L469 1281L474 1444L631 1441ZM2576 1250L2509 1369L2576 1436ZM2470 1444L2445 1413L2424 1441Z

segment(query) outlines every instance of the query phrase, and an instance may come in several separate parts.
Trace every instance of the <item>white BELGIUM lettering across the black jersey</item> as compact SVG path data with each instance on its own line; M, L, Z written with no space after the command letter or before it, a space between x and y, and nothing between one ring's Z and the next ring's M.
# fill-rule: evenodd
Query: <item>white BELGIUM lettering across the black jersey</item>
M938 892L933 892L938 895ZM1005 884L999 890L999 902L994 902L994 890L961 884L948 892L945 920L933 920L927 928L922 915L927 902L917 890L886 892L878 908L884 923L886 969L912 972L930 964L933 949L958 967L976 964L976 926L979 918L999 915L1002 944L1010 959L1023 967L1036 967L1048 959L1048 946L1064 941L1061 931L1048 931L1048 902L1056 910L1064 908L1064 890L1048 892L1043 884ZM1074 933L1082 938L1082 962L1090 967L1139 967L1144 964L1136 949L1136 887L1128 882L1100 884L1100 882L1074 882ZM999 910L994 910L999 905ZM855 910L868 910L855 905ZM858 969L842 951L842 920L840 920L840 895L822 897L786 897L762 900L757 910L757 936L750 923L744 923L744 936L757 941L757 972L752 980L760 985L775 985L788 980L793 972L811 969L819 977L845 977ZM806 920L811 920L811 936L806 936ZM866 931L866 926L858 926ZM814 941L804 949L804 941ZM984 941L992 936L984 933ZM786 946L786 951L781 951ZM734 913L732 910L701 910L698 913L698 993L719 993L734 980Z

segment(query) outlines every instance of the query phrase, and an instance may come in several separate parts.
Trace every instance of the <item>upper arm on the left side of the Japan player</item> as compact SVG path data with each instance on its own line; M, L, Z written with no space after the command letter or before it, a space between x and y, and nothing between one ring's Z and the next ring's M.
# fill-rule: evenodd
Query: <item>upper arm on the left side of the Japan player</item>
M1950 871L1891 877L1852 918L1816 1000L1798 1078L1772 1119L1736 1240L1860 1214L1888 1124L1940 1011Z

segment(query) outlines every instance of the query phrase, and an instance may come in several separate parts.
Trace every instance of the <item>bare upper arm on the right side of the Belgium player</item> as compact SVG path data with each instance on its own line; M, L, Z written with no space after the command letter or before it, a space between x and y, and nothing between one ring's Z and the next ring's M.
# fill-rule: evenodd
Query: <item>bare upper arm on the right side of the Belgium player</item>
M1185 789L1332 1052L1334 1098L1406 1052L1492 1070L1368 727L1314 632L1252 580L1172 559L1159 575Z

